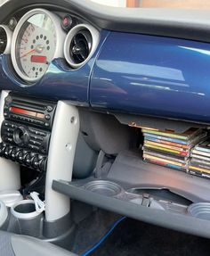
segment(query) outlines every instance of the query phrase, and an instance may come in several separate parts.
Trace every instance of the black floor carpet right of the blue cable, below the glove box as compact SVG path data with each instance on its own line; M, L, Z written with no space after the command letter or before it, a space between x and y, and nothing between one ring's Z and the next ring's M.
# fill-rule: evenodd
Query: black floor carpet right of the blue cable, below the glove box
M209 256L210 241L124 219L90 256Z

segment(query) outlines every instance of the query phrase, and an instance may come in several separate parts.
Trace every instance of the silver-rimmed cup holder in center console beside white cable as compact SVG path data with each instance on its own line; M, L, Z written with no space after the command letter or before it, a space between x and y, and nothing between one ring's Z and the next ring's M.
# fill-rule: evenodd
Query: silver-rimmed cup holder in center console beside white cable
M41 214L36 211L35 202L33 200L23 200L15 203L11 208L11 212L17 219L33 219Z

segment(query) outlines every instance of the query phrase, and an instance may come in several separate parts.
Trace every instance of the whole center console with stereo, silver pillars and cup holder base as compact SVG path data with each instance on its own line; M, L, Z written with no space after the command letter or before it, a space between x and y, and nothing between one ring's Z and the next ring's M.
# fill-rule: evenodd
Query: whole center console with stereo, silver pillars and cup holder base
M69 241L69 197L53 191L52 180L72 178L79 132L77 107L69 101L52 102L8 91L0 95L0 203L11 207L4 230L56 243ZM8 184L19 180L20 186L4 189L4 180ZM26 200L32 191L44 198L44 214L37 214L34 203Z

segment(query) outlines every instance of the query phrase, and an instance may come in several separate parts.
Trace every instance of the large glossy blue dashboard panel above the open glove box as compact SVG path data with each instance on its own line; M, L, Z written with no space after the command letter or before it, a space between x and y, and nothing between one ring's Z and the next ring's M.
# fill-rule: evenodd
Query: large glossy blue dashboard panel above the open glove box
M111 32L90 100L94 108L210 122L210 44Z

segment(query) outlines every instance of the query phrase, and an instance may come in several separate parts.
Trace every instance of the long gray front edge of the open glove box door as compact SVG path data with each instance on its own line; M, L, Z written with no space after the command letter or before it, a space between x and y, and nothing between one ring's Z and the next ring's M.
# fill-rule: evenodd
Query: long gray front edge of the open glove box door
M115 197L96 194L85 190L83 186L74 186L74 184L61 180L54 180L52 188L57 192L69 195L73 199L95 205L108 211L114 211L133 219L210 238L210 221L204 219L196 219L177 212L151 209L138 203L126 202Z

